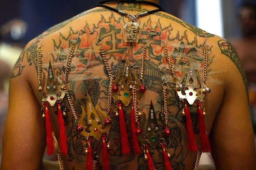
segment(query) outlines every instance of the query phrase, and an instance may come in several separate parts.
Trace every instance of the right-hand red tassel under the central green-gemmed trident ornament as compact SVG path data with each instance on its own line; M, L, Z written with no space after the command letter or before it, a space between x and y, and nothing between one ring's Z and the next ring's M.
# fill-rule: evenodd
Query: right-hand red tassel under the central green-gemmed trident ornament
M135 125L135 115L134 115L134 104L132 102L132 109L131 109L131 132L132 132L132 146L134 154L139 154L141 152L139 140L136 134L136 125Z

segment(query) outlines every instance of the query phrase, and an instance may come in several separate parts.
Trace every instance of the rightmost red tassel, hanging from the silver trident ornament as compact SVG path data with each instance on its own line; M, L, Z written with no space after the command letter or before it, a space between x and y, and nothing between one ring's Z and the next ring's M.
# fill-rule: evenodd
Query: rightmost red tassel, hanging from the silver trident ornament
M199 136L200 136L202 152L210 152L211 146L210 146L208 136L206 134L206 127L204 123L204 113L202 111L202 104L200 103L200 101L197 101L197 107L198 107L197 123L199 128Z

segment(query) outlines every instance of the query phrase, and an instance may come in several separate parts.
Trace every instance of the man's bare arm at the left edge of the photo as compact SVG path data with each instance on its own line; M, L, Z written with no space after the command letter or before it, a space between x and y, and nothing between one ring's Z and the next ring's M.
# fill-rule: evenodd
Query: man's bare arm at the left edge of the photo
M45 125L27 80L32 72L36 75L36 69L27 63L25 51L15 64L10 81L1 170L39 170L42 166ZM17 66L22 69L17 70Z

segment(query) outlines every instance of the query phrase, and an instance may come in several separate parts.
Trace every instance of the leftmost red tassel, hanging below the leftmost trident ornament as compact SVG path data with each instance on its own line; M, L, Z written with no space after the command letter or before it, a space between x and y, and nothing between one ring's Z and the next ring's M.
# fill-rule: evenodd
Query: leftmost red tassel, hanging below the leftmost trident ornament
M45 108L45 128L46 128L46 143L47 143L47 155L52 155L54 152L54 141L52 136L52 124L50 120L49 110L48 110L49 103L46 101L44 103Z

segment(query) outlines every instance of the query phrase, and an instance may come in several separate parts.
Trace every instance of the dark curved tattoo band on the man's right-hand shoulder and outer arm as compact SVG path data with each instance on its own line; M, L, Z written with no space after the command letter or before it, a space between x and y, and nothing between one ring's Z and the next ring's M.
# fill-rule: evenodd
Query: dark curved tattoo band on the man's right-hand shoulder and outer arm
M218 41L219 48L221 49L221 53L229 57L231 61L236 65L237 69L239 70L242 80L244 81L244 85L246 88L246 93L247 97L249 96L248 94L248 82L244 73L244 69L242 67L240 58L238 57L237 51L235 47L227 40L222 39Z

